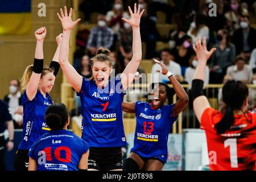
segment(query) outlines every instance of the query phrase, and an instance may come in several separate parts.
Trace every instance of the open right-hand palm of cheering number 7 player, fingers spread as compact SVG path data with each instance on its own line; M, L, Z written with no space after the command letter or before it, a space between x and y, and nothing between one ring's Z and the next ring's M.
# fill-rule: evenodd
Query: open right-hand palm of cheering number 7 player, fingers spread
M126 19L126 18L122 18L123 21L125 21L126 23L130 24L131 27L139 27L139 23L141 22L141 16L144 12L144 10L141 11L141 13L139 13L140 9L141 9L141 5L139 5L138 10L137 10L137 5L136 3L134 4L134 13L133 11L131 11L130 6L128 6L128 9L130 11L130 19Z

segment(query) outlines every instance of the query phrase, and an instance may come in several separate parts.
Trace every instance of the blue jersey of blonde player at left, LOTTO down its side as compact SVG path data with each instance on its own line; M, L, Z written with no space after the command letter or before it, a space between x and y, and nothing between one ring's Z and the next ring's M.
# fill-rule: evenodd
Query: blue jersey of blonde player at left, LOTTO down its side
M46 93L46 97L39 91L35 98L30 101L26 91L22 96L23 105L23 132L19 143L19 150L29 150L32 144L49 131L45 122L46 109L53 103L52 98Z

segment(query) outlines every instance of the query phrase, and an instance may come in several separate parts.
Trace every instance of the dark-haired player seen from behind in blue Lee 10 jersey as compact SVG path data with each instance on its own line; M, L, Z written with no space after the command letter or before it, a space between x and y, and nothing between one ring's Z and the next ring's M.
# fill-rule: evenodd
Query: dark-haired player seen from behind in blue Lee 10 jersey
M51 131L32 145L28 156L28 171L78 171L87 170L89 146L68 131L69 115L62 103L46 109L46 124Z

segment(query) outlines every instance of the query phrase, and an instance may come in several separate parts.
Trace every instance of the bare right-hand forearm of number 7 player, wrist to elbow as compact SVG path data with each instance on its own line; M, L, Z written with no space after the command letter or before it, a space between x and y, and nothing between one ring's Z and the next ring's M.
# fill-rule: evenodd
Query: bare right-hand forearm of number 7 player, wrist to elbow
M142 46L141 46L141 32L139 27L133 27L133 57L131 60L141 61Z

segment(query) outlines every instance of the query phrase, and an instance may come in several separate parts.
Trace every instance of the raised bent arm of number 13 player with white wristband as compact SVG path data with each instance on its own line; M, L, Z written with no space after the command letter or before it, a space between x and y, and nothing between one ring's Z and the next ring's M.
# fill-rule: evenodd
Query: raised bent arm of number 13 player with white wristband
M156 60L155 63L159 64L162 67L162 74L168 76L172 86L174 86L174 90L177 94L177 97L179 98L179 100L177 100L174 106L174 117L176 117L188 105L188 94L180 85L179 81L177 81L176 78L173 75L171 75L171 72L168 73L168 68L166 67L165 64ZM160 71L158 70L157 72Z

